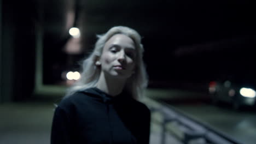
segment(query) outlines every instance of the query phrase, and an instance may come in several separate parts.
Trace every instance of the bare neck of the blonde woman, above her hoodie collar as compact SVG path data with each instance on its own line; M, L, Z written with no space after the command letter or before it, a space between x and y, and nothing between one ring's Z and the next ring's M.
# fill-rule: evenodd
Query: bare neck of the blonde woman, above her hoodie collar
M123 91L126 79L113 79L104 75L100 75L96 87L109 95L115 96Z

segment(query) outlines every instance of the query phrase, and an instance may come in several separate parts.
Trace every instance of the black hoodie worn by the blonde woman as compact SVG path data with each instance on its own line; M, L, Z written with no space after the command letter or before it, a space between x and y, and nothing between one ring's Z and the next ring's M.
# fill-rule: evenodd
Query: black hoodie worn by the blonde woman
M51 144L149 143L150 111L130 95L89 88L56 107Z

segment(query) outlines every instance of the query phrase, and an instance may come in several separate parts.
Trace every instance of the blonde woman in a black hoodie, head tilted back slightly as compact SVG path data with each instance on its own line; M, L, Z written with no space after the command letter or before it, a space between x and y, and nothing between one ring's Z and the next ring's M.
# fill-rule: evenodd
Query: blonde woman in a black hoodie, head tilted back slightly
M98 35L81 79L56 107L51 143L149 143L150 111L140 35L123 26Z

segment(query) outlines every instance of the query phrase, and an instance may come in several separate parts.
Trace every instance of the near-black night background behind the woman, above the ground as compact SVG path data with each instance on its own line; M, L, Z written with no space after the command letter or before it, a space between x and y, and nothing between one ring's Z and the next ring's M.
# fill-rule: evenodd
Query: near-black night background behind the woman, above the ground
M33 92L38 45L43 47L43 85L63 85L61 73L79 70L78 61L92 50L96 34L118 25L142 35L149 87L200 91L193 83L206 86L230 76L255 81L255 8L249 1L1 2L1 85L11 81L14 99ZM72 25L67 25L68 13L74 14ZM72 26L82 33L82 52L70 55L63 47Z

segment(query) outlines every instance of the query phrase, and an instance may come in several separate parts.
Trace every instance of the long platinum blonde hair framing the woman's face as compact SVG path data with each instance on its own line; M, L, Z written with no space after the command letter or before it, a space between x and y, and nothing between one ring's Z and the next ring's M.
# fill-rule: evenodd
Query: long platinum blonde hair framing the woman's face
M85 58L82 63L81 78L74 83L74 85L68 88L66 97L69 97L75 92L84 91L87 88L96 87L96 83L100 77L101 69L95 65L97 58L102 55L103 47L106 42L115 34L124 34L130 37L136 47L136 66L135 74L127 79L124 91L130 92L131 97L138 99L143 95L144 88L148 85L148 76L146 68L143 62L143 45L141 44L141 36L134 29L124 26L116 26L109 29L109 31L102 35L97 35L97 42L94 47L94 51L88 58Z

